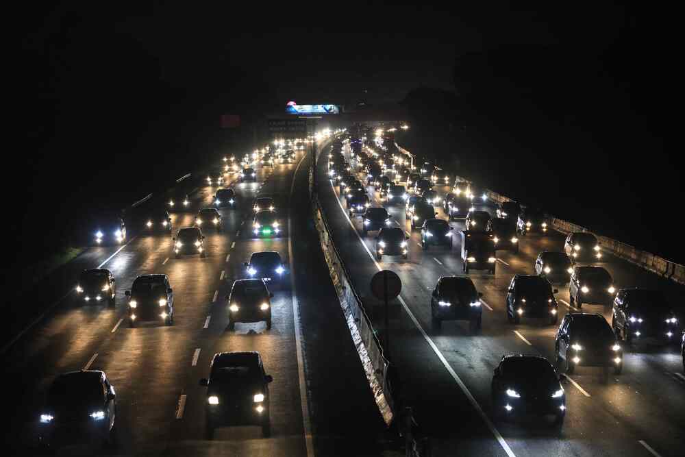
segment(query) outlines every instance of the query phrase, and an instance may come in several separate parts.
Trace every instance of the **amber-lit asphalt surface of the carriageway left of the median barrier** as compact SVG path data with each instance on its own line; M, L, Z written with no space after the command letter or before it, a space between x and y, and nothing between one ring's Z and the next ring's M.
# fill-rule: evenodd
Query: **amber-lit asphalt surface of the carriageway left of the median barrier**
M297 204L308 200L309 164L310 154L299 153L295 164L259 168L256 184L236 184L240 208L221 210L223 233L204 231L206 258L175 259L171 236L138 235L121 248L87 249L52 278L49 293L36 295L45 314L1 355L5 395L14 397L3 414L9 454L36 452L38 415L55 375L89 368L104 370L116 388L118 443L66 447L60 455L376 455L384 424L308 223L310 208ZM189 195L192 212L172 215L174 232L192 225L215 190L200 185ZM257 195L277 201L284 227L278 238L251 237ZM234 280L246 277L243 262L262 250L278 251L291 273L273 290L273 328L238 323L229 331L223 297ZM69 293L77 272L94 267L116 277L114 308L77 304ZM171 327L127 325L124 292L148 273L169 275L175 296ZM257 427L220 428L212 441L204 438L206 388L198 382L219 351L262 354L274 378L270 438Z

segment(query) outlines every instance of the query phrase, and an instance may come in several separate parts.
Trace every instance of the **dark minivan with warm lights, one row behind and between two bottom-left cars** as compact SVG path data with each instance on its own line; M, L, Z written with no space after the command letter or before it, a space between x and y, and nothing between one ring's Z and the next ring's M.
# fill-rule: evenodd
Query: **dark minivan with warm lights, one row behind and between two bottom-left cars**
M126 291L129 325L140 321L160 321L173 324L173 289L166 275L140 275Z

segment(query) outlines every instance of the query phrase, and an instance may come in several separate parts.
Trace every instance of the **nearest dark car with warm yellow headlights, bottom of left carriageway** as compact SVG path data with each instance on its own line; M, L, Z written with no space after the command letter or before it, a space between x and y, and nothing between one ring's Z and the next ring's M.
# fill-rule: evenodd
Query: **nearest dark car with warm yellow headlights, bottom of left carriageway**
M258 425L262 435L271 435L269 384L258 352L221 352L214 354L207 387L205 438L225 425Z

